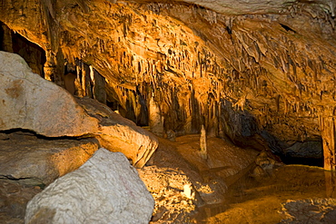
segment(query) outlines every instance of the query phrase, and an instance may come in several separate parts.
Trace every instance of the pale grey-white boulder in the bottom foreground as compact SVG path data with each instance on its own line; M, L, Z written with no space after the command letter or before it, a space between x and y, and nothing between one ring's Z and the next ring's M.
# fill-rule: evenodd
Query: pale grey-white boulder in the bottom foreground
M153 206L124 155L100 149L30 200L25 223L148 223Z

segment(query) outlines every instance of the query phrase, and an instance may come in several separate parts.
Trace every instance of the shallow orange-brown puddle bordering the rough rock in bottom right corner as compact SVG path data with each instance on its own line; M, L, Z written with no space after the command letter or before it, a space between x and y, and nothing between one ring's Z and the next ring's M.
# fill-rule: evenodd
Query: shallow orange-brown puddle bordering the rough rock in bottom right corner
M336 198L336 175L318 167L286 165L260 178L245 176L227 190L225 202L207 205L197 223L279 223L287 200ZM336 220L335 220L336 223Z

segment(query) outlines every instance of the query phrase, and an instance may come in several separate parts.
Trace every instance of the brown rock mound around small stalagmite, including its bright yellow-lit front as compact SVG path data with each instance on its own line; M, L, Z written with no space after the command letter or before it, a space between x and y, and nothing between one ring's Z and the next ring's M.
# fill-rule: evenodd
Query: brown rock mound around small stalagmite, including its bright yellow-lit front
M204 160L200 135L160 139L153 165L139 169L155 200L153 223L188 223L198 208L223 203L230 185L256 166L258 153L218 138L207 142L207 152Z

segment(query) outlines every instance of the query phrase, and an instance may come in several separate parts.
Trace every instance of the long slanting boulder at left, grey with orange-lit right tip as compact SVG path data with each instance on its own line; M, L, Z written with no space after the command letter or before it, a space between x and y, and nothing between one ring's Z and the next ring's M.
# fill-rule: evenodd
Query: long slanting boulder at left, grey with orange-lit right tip
M0 52L0 130L25 129L47 137L91 136L110 151L122 151L142 167L157 148L156 138L90 99L75 99L32 73L17 54Z

